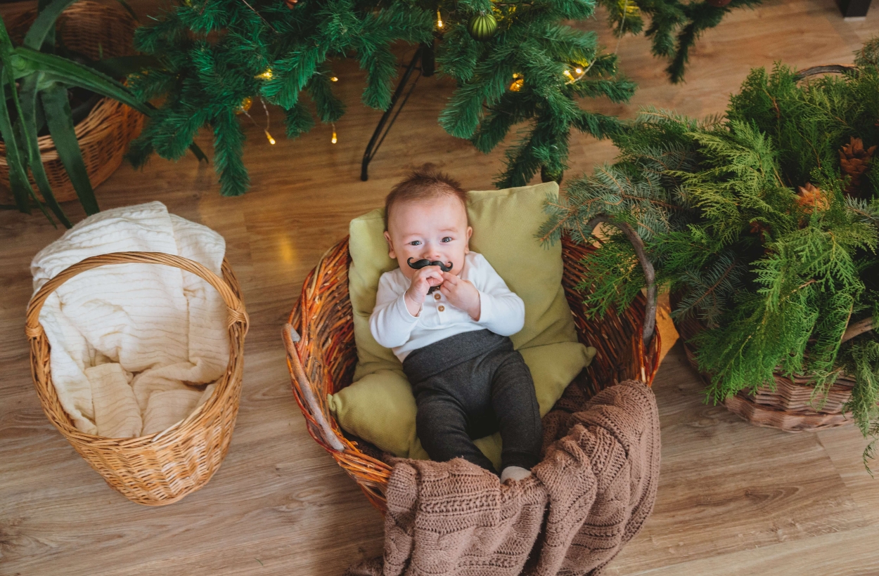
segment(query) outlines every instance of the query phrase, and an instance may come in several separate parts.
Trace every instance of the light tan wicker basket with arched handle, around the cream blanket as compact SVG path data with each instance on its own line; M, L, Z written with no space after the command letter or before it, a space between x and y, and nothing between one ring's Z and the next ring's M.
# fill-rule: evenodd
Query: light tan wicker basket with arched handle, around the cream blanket
M105 438L85 434L64 411L52 384L49 342L40 325L48 296L71 277L107 264L148 263L173 266L204 278L220 292L229 309L229 366L205 404L162 432L139 438ZM222 278L200 263L156 252L118 252L92 256L49 280L27 306L25 333L31 342L31 372L40 403L55 428L80 456L128 500L163 506L207 483L229 450L241 398L244 335L248 318L235 273L225 260Z

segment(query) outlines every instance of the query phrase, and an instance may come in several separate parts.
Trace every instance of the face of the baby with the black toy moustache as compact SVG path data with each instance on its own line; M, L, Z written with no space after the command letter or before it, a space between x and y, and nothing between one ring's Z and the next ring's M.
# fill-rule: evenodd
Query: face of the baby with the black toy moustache
M464 255L470 251L470 234L467 211L461 200L454 196L440 196L420 202L402 202L390 212L388 231L388 254L396 258L400 270L407 278L416 270L407 261L439 260L451 262L451 273L461 274Z

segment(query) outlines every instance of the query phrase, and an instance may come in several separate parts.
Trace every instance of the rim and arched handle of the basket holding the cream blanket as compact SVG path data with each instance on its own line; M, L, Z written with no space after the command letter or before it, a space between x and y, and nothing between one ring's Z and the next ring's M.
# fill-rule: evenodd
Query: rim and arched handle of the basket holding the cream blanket
M107 262L104 262L105 260ZM166 260L166 262L160 262L161 260ZM186 268L179 266L177 263L171 262L185 263ZM91 256L90 258L85 258L79 263L75 263L69 266L67 269L62 270L50 280L48 280L46 284L43 284L43 286L40 287L40 290L34 293L33 297L27 305L27 322L25 324L25 334L27 335L28 339L31 341L45 340L47 353L49 353L49 351L51 350L51 346L48 343L46 332L42 328L42 324L40 324L40 310L45 303L45 300L58 288L58 286L64 284L64 282L66 282L69 278L75 277L77 274L80 274L87 270L98 268L99 266L120 265L127 263L155 263L174 266L180 268L181 270L192 272L196 276L201 277L208 284L211 284L214 289L217 289L217 291L221 293L223 299L226 300L226 306L228 311L233 309L233 306L229 306L230 300L233 304L236 304L236 306L234 306L233 316L229 319L227 329L227 331L229 332L230 342L234 340L232 339L232 331L236 324L240 324L242 326L244 334L247 333L250 320L244 308L243 300L240 299L235 293L236 288L230 285L233 284L234 275L231 272L229 260L225 256L223 257L222 261L222 277L218 277L216 274L214 274L213 271L207 269L206 266L183 256L175 256L158 252L113 252L99 256ZM59 278L61 278L61 280L57 281ZM220 290L219 288L217 288L218 285L224 286L225 290ZM34 358L32 354L32 368L33 360ZM64 419L58 418L57 414L54 414L53 411L46 410L45 406L44 412L47 414L49 420L52 421L55 428L58 428L60 431L62 431L62 434L64 436L75 437L76 440L84 443L103 445L118 444L120 445L120 447L124 446L126 448L140 448L142 445L145 444L157 443L164 438L173 436L177 432L185 433L186 431L197 427L200 421L207 419L207 413L211 411L214 407L216 407L219 402L227 400L229 395L232 393L232 388L234 386L232 383L232 378L230 378L230 371L233 370L235 363L236 356L234 356L230 352L229 362L226 365L226 371L224 371L222 376L219 378L219 381L214 388L214 392L211 393L205 403L202 404L200 407L194 409L193 412L187 415L183 420L178 421L172 424L170 427L160 430L159 432L154 432L146 436L114 438L110 436L92 435L83 432L79 428L76 428L76 426L73 424L73 421L70 419L69 414L67 414L66 411L63 411L63 409L62 411L66 416L66 418ZM46 384L54 388L54 383L52 382L51 363L49 364L49 366L49 371L46 374ZM33 381L34 385L39 386L37 378L33 378Z

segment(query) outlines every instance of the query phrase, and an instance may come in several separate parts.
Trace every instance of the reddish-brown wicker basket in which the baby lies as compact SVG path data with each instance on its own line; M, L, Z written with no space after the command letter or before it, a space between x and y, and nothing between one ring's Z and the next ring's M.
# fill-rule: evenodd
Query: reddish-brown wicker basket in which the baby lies
M580 342L598 349L592 364L576 382L587 394L629 378L650 384L658 368L659 335L643 346L643 297L636 299L622 316L608 312L602 320L586 320L583 295L575 286L584 276L581 261L592 246L580 246L563 239L564 275L568 297ZM301 298L290 314L297 334L284 331L287 367L296 402L304 414L309 434L358 483L367 499L384 512L385 488L391 467L378 459L371 444L343 434L326 404L327 394L351 384L357 350L351 300L348 299L348 239L338 242L323 255L302 286ZM369 454L367 454L369 452ZM370 456L372 454L372 456Z

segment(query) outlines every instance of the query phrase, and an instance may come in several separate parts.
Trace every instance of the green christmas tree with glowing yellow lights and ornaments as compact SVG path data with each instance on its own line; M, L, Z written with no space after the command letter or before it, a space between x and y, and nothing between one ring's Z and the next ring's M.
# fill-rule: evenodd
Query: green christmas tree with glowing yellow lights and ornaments
M687 21L695 26L674 52L686 61L701 27L716 24L729 8L677 4L637 0L653 16L648 33L657 42ZM222 194L242 194L248 176L237 113L259 99L277 104L289 138L316 120L335 122L345 104L333 94L332 62L343 57L357 59L367 73L363 103L386 109L397 69L391 47L403 41L435 46L439 73L457 83L439 117L448 133L488 152L513 126L525 125L506 152L499 186L527 184L538 171L559 179L571 129L604 138L619 127L613 117L585 110L580 99L624 102L635 90L618 73L614 54L599 50L594 33L564 24L590 18L594 6L594 0L185 0L137 34L138 49L161 64L131 77L130 86L164 102L131 158L140 165L155 151L177 159L200 127L210 126ZM710 16L695 16L703 12ZM640 23L633 16L621 30L640 30Z

